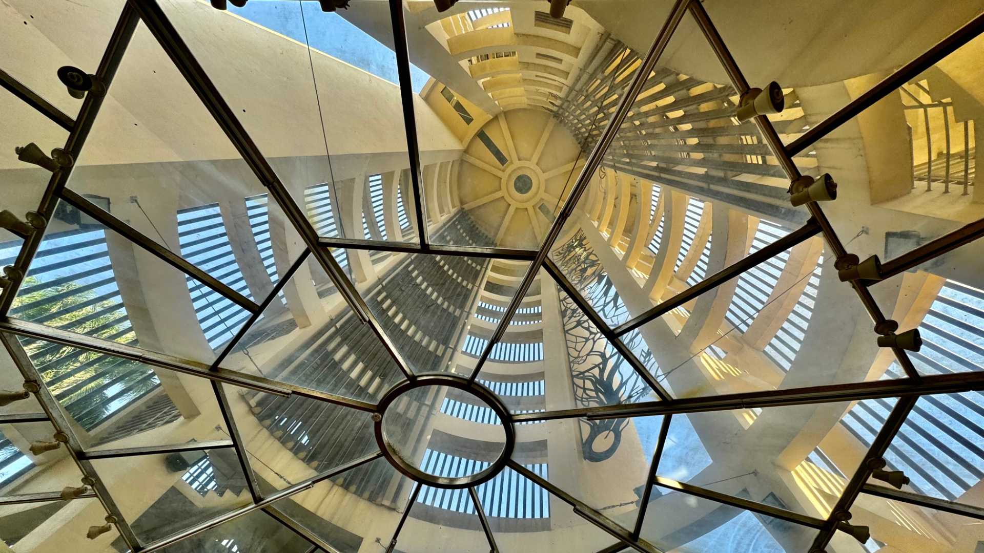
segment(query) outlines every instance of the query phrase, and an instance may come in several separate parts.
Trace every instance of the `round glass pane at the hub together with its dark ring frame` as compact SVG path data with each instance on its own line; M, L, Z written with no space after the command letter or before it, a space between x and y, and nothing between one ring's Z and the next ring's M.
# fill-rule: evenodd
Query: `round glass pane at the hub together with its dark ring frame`
M417 423L432 424L444 399L454 399L477 407L487 407L499 417L500 425L483 431L481 451L498 452L487 460L479 460L471 466L456 467L450 473L448 467L437 465L425 456L425 446L431 441L441 441L442 451L461 452L461 457L475 448L475 439L441 432L433 428L427 441L421 442ZM400 382L391 388L379 402L379 411L373 415L376 442L383 456L409 478L438 488L465 488L475 486L495 477L513 455L516 434L509 409L489 389L468 379L449 373L417 375L412 381Z

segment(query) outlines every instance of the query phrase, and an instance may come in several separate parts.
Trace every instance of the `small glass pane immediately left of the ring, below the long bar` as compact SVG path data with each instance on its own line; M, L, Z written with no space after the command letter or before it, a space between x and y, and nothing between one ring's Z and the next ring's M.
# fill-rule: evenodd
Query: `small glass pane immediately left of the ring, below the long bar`
M226 397L257 477L276 489L379 449L369 413L231 387Z

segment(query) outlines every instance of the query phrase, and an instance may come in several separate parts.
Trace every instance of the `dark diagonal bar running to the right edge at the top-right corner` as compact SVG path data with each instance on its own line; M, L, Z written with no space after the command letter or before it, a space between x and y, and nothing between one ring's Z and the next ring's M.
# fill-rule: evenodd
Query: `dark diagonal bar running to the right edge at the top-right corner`
M972 40L982 31L984 31L984 14L975 17L960 29L953 31L950 36L938 42L921 56L898 68L892 75L883 79L880 83L869 89L868 92L854 98L853 101L838 109L830 117L815 125L786 146L786 154L796 155L803 152L807 147L829 135L831 131L854 118L858 113L874 105L878 100L908 83L917 75L950 55L954 50Z

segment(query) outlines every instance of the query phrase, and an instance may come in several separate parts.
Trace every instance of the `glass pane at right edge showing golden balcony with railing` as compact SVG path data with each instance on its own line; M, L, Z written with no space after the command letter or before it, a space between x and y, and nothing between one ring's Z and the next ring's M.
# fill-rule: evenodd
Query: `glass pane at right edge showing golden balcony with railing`
M856 237L847 251L861 261L877 255L885 263L984 216L984 188L970 184L979 131L965 111L977 108L964 107L979 105L975 98L984 90L979 80L966 80L979 49L972 41L955 50L835 133L805 146L815 167L795 159L801 171L830 172L837 181L838 197L823 204L824 212L842 240ZM884 75L845 82L842 103ZM839 107L807 92L800 99L810 125Z

